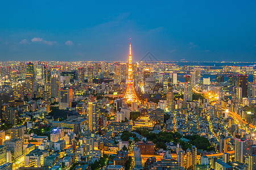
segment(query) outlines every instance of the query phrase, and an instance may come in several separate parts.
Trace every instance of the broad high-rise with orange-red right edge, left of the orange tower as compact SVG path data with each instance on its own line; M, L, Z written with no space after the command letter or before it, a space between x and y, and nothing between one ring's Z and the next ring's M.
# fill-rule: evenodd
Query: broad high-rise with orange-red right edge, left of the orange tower
M59 90L59 109L67 109L71 107L73 101L72 88Z

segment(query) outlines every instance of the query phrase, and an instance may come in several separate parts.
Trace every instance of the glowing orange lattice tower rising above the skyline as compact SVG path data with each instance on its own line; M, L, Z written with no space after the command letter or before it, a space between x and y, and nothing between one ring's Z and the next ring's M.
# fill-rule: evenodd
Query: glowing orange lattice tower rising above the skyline
M126 79L126 91L125 96L126 102L138 102L138 96L134 90L134 80L133 80L133 57L131 57L131 39L130 39L130 52L129 52L129 66L128 66L128 77Z

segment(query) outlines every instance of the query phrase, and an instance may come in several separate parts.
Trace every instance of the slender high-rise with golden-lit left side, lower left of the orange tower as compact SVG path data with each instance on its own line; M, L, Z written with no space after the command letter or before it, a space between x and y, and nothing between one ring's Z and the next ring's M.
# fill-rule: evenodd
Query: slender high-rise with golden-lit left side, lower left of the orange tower
M99 109L98 104L95 102L89 102L88 108L87 108L87 120L89 125L89 130L92 131L92 133L98 133L99 128Z

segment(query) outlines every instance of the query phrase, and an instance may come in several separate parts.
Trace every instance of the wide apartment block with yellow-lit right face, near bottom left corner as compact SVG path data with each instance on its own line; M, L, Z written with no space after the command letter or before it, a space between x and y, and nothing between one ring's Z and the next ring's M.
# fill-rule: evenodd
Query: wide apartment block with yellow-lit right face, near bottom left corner
M3 145L11 151L13 159L17 159L22 155L22 139L9 139L3 142Z

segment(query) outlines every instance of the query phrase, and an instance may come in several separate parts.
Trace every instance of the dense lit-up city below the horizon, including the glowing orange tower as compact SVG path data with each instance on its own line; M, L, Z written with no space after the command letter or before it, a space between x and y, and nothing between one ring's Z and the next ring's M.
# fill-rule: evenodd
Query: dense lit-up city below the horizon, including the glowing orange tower
M0 169L256 169L254 63L129 51L1 62Z

